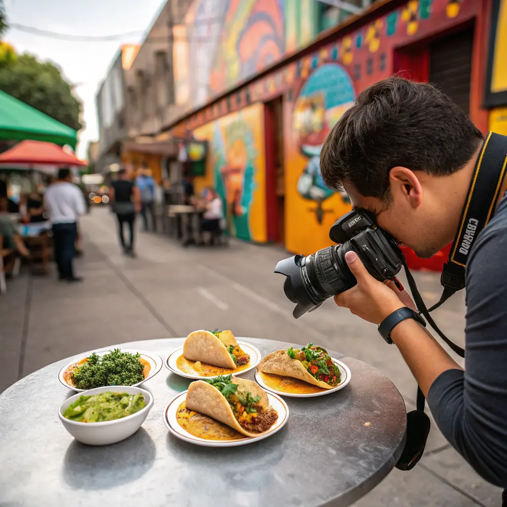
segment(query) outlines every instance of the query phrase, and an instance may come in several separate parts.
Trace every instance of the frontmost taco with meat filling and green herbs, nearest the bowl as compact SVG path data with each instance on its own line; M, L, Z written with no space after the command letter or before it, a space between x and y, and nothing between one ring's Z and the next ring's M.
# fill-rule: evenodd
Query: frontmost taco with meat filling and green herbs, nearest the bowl
M247 437L258 437L278 419L267 393L255 382L225 375L192 382L186 410L207 415Z

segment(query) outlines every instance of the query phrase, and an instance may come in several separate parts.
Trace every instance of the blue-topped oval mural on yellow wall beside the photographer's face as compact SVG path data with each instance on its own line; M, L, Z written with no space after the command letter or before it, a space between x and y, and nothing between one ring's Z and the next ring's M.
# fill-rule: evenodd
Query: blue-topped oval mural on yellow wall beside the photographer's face
M343 112L352 105L354 87L347 71L338 63L322 65L304 82L294 104L293 130L295 143L308 162L298 179L298 193L315 202L317 222L322 223L325 212L323 202L334 190L325 185L320 174L320 150L325 137ZM342 193L344 202L349 202Z

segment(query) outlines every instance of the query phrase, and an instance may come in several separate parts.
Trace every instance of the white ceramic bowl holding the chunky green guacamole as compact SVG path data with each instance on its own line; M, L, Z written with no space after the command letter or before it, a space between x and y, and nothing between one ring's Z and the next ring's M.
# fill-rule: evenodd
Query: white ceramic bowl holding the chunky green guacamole
M80 396L88 396L90 394L100 394L101 392L126 392L127 394L141 393L144 396L144 403L146 407L135 414L123 417L122 419L115 419L114 421L104 422L78 422L71 421L63 417L63 412L69 405L73 404L79 399ZM67 398L58 407L58 417L62 422L65 429L76 439L83 444L88 445L107 445L120 442L121 440L130 437L134 434L146 419L148 412L153 407L153 396L144 389L139 387L130 386L105 386L90 389L89 391L80 392L74 396Z

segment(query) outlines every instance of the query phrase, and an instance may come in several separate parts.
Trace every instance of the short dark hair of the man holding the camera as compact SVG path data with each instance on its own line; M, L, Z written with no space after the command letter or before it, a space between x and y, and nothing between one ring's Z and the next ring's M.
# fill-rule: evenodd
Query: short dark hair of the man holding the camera
M320 170L330 188L346 182L388 201L393 167L446 176L474 156L483 138L440 90L393 76L363 90L343 113L324 141Z

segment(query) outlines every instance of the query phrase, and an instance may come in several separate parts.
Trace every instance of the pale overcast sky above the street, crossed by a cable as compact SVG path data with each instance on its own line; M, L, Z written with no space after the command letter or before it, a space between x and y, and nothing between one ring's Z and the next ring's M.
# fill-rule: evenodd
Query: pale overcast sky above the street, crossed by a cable
M9 22L74 35L110 35L147 30L165 0L4 0ZM86 128L79 132L78 155L86 157L98 137L95 94L120 45L137 43L142 35L121 41L70 42L11 29L4 40L18 53L29 52L58 64L67 81L77 85Z

